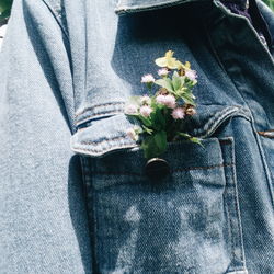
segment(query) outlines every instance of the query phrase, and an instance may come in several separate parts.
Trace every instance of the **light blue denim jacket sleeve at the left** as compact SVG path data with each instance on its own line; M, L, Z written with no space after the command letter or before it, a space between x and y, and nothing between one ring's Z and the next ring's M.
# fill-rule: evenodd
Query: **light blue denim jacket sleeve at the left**
M14 1L0 53L1 273L91 273L69 50L46 2Z

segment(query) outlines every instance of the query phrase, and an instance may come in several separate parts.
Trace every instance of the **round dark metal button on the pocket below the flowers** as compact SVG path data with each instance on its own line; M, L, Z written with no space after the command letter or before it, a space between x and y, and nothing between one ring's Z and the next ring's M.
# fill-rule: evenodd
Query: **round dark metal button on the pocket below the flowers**
M164 159L152 158L147 162L145 172L151 180L161 180L170 173L170 167Z

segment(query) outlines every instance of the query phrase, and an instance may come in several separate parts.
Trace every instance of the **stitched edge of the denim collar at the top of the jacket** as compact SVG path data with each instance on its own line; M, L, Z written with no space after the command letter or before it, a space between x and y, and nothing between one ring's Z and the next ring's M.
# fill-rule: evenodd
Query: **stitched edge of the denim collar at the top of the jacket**
M208 2L210 0L119 0L115 12L117 14L149 11L168 8L181 3Z

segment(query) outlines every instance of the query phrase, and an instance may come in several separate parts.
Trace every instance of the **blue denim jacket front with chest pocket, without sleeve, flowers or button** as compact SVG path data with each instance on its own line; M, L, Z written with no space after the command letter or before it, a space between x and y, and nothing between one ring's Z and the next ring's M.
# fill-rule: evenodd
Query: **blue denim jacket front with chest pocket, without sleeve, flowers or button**
M273 141L258 133L273 128L270 49L219 2L87 9L85 90L71 146L83 155L94 271L273 272ZM205 140L204 149L170 144L171 174L153 184L123 112L168 49L198 73L189 129Z

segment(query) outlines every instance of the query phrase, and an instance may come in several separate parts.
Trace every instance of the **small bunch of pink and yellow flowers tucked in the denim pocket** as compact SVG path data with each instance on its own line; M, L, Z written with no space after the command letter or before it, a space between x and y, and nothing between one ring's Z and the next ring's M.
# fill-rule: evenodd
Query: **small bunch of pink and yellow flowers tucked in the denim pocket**
M156 59L159 79L145 75L141 82L148 88L148 94L134 96L125 106L125 114L133 119L135 126L127 135L138 141L148 159L159 157L167 150L169 141L179 137L199 144L199 139L180 132L187 118L196 114L193 87L197 83L197 75L190 62L182 64L169 50L164 57Z

